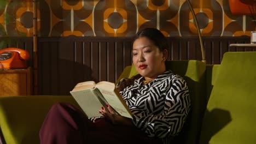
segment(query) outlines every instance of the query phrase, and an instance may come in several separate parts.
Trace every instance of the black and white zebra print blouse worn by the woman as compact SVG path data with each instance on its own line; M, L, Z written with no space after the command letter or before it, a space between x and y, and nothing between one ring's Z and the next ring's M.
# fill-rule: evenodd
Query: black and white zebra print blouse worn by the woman
M133 124L150 137L179 134L190 111L187 83L171 70L146 85L143 80L135 80L120 92L132 111Z

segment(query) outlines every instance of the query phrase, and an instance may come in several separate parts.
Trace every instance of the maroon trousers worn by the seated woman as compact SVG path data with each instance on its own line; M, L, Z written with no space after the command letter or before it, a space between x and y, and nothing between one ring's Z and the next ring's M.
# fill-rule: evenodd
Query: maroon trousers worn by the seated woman
M114 125L101 118L90 121L70 104L51 107L40 129L40 143L162 143L136 127Z

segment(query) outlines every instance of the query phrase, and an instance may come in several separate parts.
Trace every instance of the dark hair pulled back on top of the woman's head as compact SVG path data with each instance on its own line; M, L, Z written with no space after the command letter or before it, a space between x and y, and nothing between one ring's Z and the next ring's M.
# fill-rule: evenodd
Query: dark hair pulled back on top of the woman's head
M155 46L159 48L159 50L162 52L165 49L168 49L168 43L167 39L165 38L165 35L162 34L158 29L156 28L145 28L142 31L138 32L135 36L135 39L146 37L149 40L153 42Z

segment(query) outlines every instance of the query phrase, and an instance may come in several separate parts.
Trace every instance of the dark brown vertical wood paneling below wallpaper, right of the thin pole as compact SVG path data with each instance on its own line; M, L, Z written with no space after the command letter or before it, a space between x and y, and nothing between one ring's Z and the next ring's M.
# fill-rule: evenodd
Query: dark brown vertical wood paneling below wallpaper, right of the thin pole
M197 37L168 37L168 60L201 60ZM204 37L207 64L219 64L227 51L252 51L229 47L249 43L249 37ZM82 81L115 82L132 63L132 38L51 37L38 38L39 94L63 95Z

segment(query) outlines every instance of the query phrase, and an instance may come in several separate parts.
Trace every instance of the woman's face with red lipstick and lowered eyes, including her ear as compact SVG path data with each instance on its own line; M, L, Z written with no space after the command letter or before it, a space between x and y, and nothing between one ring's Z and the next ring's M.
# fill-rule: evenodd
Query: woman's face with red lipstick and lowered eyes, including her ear
M134 41L132 55L136 70L146 80L155 79L165 72L167 50L161 52L148 38L141 37Z

